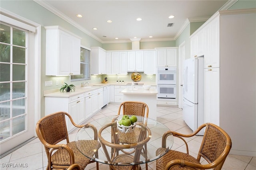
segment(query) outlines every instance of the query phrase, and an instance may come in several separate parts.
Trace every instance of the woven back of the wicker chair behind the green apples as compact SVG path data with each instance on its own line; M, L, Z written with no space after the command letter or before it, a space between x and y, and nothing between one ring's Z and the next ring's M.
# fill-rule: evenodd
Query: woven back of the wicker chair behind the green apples
M123 115L137 115L144 117L146 111L146 117L148 117L148 105L144 102L122 102L118 109L118 115L120 115L121 109L123 109Z

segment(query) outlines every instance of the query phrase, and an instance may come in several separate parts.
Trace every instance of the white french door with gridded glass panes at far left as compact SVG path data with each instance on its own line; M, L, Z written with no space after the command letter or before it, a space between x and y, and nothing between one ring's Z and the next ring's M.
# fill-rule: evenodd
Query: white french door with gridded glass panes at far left
M34 137L34 32L0 22L0 154Z

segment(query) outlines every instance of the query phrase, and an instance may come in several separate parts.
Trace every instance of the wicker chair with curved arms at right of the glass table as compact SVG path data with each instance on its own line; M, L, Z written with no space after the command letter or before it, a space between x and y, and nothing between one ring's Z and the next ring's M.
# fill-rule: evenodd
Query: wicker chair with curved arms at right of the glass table
M188 144L183 137L192 137L204 127L206 127L206 130L202 144L197 158L194 158L189 155ZM156 170L202 170L211 168L221 170L232 146L229 135L223 129L212 123L206 123L198 127L198 129L190 135L183 135L174 131L166 132L163 136L162 148L156 151L156 155L161 154L161 150L166 149L165 140L169 135L182 139L186 145L187 153L169 150L164 156L156 160ZM200 164L201 157L209 164Z

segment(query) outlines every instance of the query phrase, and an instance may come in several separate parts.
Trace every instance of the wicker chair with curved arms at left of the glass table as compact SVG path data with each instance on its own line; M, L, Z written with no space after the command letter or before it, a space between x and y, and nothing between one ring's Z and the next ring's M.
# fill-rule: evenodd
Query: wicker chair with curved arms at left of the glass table
M84 156L77 149L75 141L69 142L65 116L69 117L75 127L83 127L83 125L74 123L72 117L66 112L52 113L43 117L36 123L36 134L44 145L48 158L46 170L66 169L75 163L83 170L87 164L95 162ZM94 130L94 140L84 140L80 142L84 142L86 146L99 149L100 143L98 142L97 129L92 125L88 125L88 127ZM65 139L67 144L58 144ZM90 154L94 155L94 153ZM96 152L95 156L98 156L98 152ZM98 170L98 162L96 162L96 167Z

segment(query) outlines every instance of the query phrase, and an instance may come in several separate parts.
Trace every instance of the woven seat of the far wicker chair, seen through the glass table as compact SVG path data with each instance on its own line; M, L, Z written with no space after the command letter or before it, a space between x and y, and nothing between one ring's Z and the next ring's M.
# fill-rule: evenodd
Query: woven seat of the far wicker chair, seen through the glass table
M119 142L133 144L138 142L138 137L140 134L140 127L135 127L134 131L129 133L122 133L118 131Z

